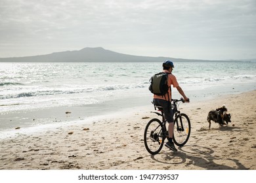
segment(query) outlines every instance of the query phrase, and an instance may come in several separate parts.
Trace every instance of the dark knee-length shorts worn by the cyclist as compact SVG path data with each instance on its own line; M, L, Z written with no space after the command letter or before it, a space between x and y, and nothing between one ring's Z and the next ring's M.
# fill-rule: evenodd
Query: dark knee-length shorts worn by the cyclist
M171 110L171 102L162 99L153 99L155 105L160 105L163 108L163 114L168 123L173 123L173 110Z

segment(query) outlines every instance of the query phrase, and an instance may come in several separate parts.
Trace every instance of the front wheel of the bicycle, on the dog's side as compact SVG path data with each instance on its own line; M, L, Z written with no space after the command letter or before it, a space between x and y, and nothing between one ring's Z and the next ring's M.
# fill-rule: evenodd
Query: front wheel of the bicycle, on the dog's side
M174 120L173 142L177 146L184 146L190 137L191 125L186 114L181 113Z

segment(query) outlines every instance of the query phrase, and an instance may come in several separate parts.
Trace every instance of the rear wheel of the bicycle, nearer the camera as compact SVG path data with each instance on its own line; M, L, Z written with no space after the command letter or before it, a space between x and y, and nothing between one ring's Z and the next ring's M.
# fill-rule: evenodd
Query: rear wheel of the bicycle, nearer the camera
M158 154L163 148L163 141L165 139L162 135L163 124L157 118L148 122L144 131L144 144L146 150L150 154Z

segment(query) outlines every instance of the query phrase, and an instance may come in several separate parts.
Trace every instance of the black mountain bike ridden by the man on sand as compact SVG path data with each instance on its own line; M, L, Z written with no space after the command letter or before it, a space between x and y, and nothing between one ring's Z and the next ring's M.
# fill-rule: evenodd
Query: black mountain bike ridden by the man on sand
M190 137L191 125L188 116L178 110L179 105L177 103L180 101L184 103L183 98L180 100L171 99L171 110L173 110L173 115L175 116L173 142L177 146L184 146ZM163 115L163 108L156 106L154 103L153 105L155 110L158 108L161 114L160 112L153 113L161 116L162 120L160 121L158 118L153 118L148 122L144 131L144 145L150 154L155 155L160 152L161 148L163 148L165 138L168 137L168 131L166 128L167 120L165 120L165 116Z

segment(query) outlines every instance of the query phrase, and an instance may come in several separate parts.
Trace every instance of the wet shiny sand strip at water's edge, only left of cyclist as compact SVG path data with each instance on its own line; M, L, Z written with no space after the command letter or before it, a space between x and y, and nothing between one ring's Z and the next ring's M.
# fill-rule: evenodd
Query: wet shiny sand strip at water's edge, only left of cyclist
M20 110L1 115L1 122L5 123L1 129L0 139L3 133L15 133L19 131L32 131L31 129L49 129L63 125L72 125L81 122L90 124L91 120L125 114L133 108L148 107L151 105L150 97L133 97L105 101L95 105L41 108L35 110ZM129 103L127 103L129 101ZM140 103L138 104L138 101ZM123 105L125 103L125 105ZM148 103L149 105L146 105ZM13 124L10 125L9 122ZM35 125L33 125L35 124ZM5 127L8 126L8 127Z

